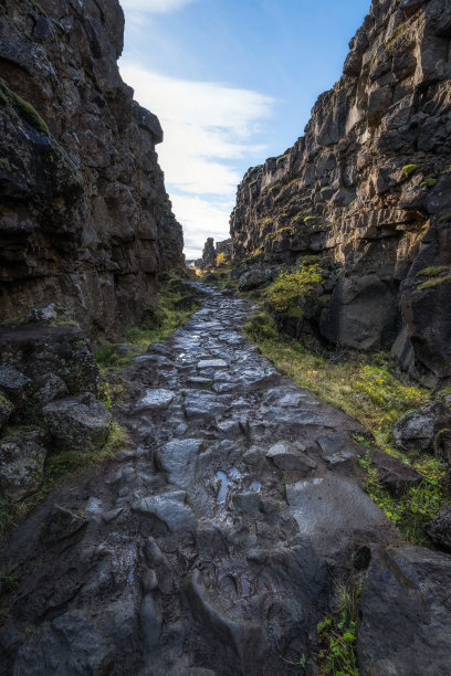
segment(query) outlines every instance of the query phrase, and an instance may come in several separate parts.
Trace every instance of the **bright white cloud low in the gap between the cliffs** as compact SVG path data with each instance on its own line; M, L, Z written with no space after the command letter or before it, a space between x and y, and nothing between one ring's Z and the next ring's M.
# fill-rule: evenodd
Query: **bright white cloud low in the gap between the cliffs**
M160 119L165 141L158 146L159 161L172 188L187 255L193 257L207 236L228 236L240 165L249 156L264 157L256 141L274 99L221 83L168 77L127 60L120 74L136 99Z

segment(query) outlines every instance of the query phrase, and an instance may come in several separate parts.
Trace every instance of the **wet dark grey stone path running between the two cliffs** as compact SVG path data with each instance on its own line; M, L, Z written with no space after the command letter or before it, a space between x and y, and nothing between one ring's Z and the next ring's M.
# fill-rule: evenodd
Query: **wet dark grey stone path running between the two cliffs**
M359 424L242 336L247 302L204 291L127 373L116 413L133 445L10 538L2 564L19 562L20 580L1 673L315 674L316 623L352 570L366 575L361 673L450 673L450 601L430 581L449 580L448 557L395 547L358 485Z

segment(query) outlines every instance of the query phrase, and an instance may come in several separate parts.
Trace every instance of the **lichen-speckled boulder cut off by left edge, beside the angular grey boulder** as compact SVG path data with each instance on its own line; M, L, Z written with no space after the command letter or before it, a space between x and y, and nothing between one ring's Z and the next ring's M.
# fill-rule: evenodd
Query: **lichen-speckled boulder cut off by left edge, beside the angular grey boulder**
M0 441L0 496L18 500L38 490L42 484L45 448L42 433L29 430Z

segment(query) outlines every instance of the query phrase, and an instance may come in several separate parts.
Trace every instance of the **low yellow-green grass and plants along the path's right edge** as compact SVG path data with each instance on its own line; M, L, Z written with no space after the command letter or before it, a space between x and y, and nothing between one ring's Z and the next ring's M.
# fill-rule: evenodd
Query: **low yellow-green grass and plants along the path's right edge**
M407 455L399 451L394 445L392 427L405 413L427 404L430 392L398 373L386 353L313 352L277 335L274 319L266 311L251 317L244 331L282 373L318 399L353 415L368 430L374 442L364 436L357 439L363 447L359 463L364 487L406 540L428 545L423 525L434 518L447 499L441 482L445 467L433 455ZM422 475L422 482L400 498L390 496L371 464L369 448L374 445L415 467Z

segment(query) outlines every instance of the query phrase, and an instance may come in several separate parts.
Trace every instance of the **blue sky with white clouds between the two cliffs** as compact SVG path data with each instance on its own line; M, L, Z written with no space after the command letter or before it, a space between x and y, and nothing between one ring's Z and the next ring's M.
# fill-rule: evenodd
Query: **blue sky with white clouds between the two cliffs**
M120 0L123 78L155 113L187 258L229 236L249 167L302 136L370 0Z

